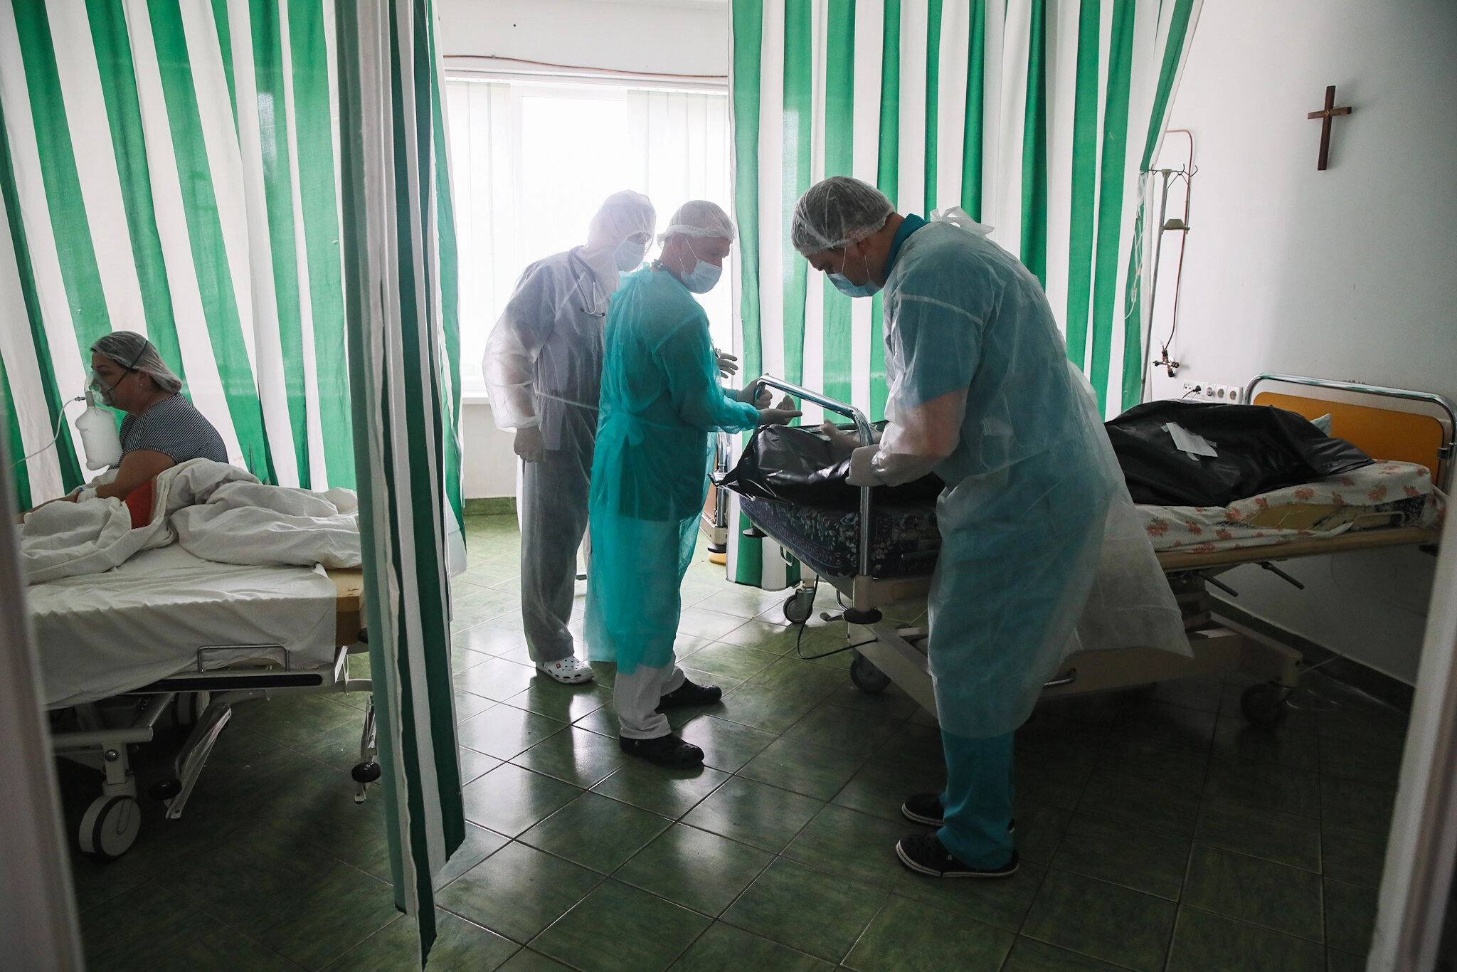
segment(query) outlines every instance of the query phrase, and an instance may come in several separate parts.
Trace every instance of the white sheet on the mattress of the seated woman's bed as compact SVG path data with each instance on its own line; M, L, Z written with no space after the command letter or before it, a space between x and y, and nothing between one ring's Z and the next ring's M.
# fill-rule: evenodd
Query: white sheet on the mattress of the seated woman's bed
M172 545L28 595L48 707L176 675L205 646L281 644L296 669L334 659L335 587L319 568L214 564Z

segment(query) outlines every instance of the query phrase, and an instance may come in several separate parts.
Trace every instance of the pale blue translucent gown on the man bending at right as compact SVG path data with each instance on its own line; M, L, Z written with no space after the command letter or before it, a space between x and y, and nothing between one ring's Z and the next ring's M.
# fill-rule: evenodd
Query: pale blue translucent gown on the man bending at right
M873 468L925 455L930 402L959 412L956 446L934 465L947 484L928 644L943 730L1010 733L1080 648L1187 654L1093 391L1027 268L931 222L892 264L884 319L889 426Z

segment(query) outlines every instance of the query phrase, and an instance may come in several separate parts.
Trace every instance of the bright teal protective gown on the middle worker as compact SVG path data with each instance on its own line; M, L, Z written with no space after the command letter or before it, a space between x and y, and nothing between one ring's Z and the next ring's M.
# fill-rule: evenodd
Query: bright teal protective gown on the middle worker
M758 424L718 385L708 316L670 273L627 277L608 312L592 465L587 648L619 675L673 660L679 586L708 491L710 433Z

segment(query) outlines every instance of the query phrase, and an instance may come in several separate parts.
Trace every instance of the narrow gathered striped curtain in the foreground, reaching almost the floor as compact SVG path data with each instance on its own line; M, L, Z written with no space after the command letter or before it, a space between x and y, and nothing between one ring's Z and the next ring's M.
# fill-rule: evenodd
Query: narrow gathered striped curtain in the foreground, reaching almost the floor
M396 905L434 940L465 839L450 686L456 249L430 0L338 7L344 293L370 672Z

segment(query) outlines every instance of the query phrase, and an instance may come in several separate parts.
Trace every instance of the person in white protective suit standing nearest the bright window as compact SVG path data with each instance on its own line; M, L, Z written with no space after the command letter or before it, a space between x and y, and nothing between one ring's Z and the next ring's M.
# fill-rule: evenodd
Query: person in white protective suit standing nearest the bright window
M597 436L602 325L618 275L643 264L657 213L640 192L609 195L587 245L526 268L485 345L485 383L500 428L522 458L522 624L536 667L568 685L590 682L574 651L577 548Z

